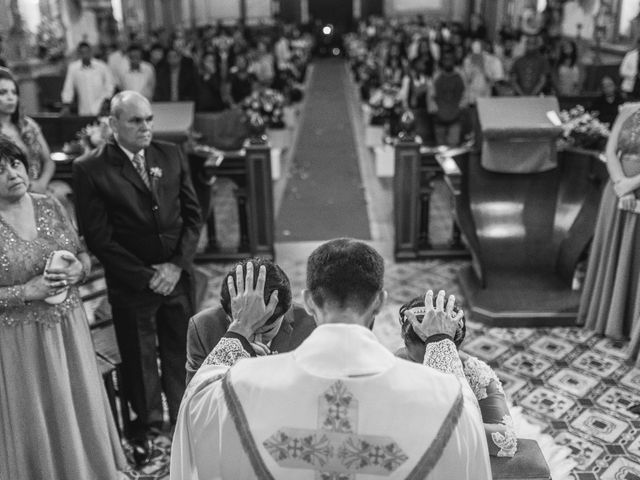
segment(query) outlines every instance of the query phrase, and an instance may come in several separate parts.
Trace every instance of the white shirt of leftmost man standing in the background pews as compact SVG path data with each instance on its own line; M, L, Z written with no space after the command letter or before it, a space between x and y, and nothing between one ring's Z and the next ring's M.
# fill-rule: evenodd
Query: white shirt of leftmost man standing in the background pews
M62 103L71 103L76 97L78 115L98 115L113 91L113 77L106 63L93 58L89 66L84 66L81 60L75 60L67 67Z

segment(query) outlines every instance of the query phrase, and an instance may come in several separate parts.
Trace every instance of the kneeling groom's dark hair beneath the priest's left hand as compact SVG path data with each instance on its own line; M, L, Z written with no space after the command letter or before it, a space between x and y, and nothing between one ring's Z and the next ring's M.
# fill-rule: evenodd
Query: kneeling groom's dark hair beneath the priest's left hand
M264 301L265 304L269 302L271 294L274 290L278 291L278 304L273 312L273 315L269 317L265 325L270 325L275 322L279 317L284 315L291 308L291 283L289 283L289 277L284 271L271 260L264 258L247 258L238 262L233 266L231 270L224 276L222 280L222 286L220 287L220 305L224 312L231 318L231 295L229 294L229 285L227 279L231 277L235 279L236 267L242 266L242 275L247 274L247 263L253 263L253 281L258 281L258 273L260 267L264 265L267 270L267 277L264 284Z

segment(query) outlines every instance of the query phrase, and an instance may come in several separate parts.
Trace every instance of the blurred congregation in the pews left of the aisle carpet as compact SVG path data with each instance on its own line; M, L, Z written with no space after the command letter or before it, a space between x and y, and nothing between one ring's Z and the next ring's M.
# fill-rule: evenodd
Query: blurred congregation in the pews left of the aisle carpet
M133 31L110 53L98 49L95 55L91 45L81 42L60 92L62 113L73 108L79 115L101 114L115 90L133 90L156 102L195 101L203 112L241 105L265 88L281 92L287 104L302 98L311 42L295 27L276 24L233 35L220 26L177 28L168 45L157 32L149 34L150 41L143 38ZM47 102L43 108L55 103Z

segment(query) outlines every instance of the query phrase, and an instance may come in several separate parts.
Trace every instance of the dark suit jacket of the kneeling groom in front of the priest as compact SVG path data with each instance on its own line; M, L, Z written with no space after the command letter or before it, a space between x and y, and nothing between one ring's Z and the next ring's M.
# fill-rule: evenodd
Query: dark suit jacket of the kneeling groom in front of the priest
M229 328L229 319L221 307L207 308L189 320L187 333L187 383ZM304 308L294 305L284 315L280 331L271 340L272 352L290 352L316 328L316 322Z

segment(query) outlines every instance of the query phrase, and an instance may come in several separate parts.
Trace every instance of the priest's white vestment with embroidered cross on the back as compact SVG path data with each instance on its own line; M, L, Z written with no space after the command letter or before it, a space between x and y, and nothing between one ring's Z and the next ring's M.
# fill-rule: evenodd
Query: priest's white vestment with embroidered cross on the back
M246 421L237 423L241 418ZM450 436L442 434L446 425ZM328 441L333 449L322 454L328 463L309 463L296 457L295 449L280 449L298 437ZM382 469L388 478L407 478L438 444L442 449L429 478L491 479L482 419L469 385L396 358L368 329L344 324L316 328L293 352L242 359L230 370L203 365L180 407L171 479L261 478L249 461L251 451L273 478L312 480L328 464L345 468L349 459L331 451L349 446L357 457L362 442L393 447L395 454L390 467L352 464L361 480L381 478ZM388 452L385 448L378 453Z

